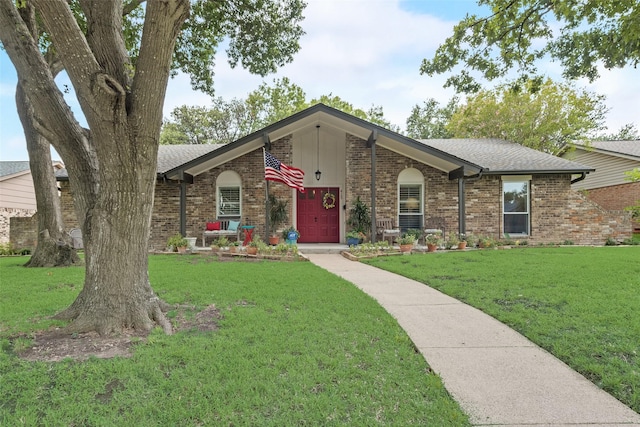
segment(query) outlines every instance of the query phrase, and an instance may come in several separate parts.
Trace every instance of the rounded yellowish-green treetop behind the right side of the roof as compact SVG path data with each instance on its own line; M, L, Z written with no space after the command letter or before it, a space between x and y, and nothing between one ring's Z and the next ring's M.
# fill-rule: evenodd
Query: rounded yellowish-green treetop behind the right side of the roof
M602 129L604 97L568 84L511 83L469 96L447 129L456 138L500 138L550 154Z

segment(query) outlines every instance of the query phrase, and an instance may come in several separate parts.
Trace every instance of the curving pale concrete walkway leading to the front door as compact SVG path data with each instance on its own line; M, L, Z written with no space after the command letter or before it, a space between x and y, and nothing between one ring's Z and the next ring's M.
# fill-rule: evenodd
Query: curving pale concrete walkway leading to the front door
M339 254L306 254L402 326L474 425L640 426L640 414L475 308Z

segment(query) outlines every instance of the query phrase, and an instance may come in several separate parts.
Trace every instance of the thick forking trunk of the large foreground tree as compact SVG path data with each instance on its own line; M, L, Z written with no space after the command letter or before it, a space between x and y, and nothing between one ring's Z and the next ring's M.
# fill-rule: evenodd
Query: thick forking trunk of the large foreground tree
M104 335L158 324L170 333L147 257L162 105L189 1L147 2L133 79L121 2L80 1L86 37L66 0L33 2L90 127L73 117L13 0L0 0L0 39L42 121L39 131L65 162L83 234L84 287L58 318L71 320L69 331Z

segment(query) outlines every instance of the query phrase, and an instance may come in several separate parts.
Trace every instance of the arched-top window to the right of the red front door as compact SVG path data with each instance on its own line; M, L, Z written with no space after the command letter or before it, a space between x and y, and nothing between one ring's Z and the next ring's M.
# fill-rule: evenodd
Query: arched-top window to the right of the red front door
M424 177L413 168L405 169L398 176L398 225L402 231L421 229L424 223Z

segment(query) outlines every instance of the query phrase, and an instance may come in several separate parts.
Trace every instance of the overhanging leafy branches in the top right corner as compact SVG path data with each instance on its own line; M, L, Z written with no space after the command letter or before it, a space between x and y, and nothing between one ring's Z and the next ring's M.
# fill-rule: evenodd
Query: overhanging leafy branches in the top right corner
M475 92L480 85L469 70L493 80L510 70L537 75L543 58L559 61L566 78L598 77L607 69L640 61L640 2L637 0L478 0L489 16L468 15L453 35L425 59L427 75L458 70L446 86ZM464 65L463 69L457 68Z

